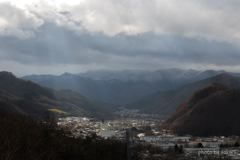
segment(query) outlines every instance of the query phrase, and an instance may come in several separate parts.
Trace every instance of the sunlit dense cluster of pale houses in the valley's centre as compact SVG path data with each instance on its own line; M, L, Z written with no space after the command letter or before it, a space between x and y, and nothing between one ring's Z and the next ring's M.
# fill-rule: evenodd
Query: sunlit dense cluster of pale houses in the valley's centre
M96 133L104 138L110 138L112 136L120 138L125 136L125 130L127 128L131 129L135 127L137 130L140 130L143 126L148 125L155 131L154 129L157 129L159 123L160 121L156 119L121 119L100 122L91 121L91 119L87 117L58 118L57 122L59 126L67 126L69 130L72 131L74 137L82 138L91 136L92 133Z

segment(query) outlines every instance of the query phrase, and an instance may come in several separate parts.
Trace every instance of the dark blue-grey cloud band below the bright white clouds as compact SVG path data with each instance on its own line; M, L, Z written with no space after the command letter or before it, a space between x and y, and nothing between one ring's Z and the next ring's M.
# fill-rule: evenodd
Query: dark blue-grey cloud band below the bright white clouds
M129 57L133 66L138 63L136 56L230 66L237 65L240 60L239 49L234 43L153 32L107 36L85 31L76 35L63 27L45 23L35 35L36 38L26 40L0 37L4 53L0 55L1 60L23 64L102 64L116 56Z

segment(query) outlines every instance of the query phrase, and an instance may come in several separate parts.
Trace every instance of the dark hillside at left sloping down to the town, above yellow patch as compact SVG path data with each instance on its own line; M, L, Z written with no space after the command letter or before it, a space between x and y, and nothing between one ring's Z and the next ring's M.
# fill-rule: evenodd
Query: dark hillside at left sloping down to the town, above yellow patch
M0 72L0 106L31 116L42 116L48 109L58 109L76 116L112 118L112 115L71 90L53 90L31 81L16 78L12 73Z

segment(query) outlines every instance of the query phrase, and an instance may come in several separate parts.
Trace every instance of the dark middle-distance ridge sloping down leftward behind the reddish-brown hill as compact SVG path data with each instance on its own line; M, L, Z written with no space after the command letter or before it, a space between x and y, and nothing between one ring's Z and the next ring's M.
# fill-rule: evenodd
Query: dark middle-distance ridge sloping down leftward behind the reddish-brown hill
M145 96L138 101L127 105L126 108L140 109L141 113L169 115L195 91L209 85L210 83L221 83L230 88L240 88L239 78L223 73L201 81L186 84L175 90L160 91Z

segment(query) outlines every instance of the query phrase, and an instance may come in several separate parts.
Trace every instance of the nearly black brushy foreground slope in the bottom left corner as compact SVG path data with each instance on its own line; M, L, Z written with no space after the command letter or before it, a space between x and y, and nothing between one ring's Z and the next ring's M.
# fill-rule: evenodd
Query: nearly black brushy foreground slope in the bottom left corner
M96 136L69 137L53 118L32 118L0 107L1 160L93 160L125 158L125 144ZM17 134L16 134L17 133Z

